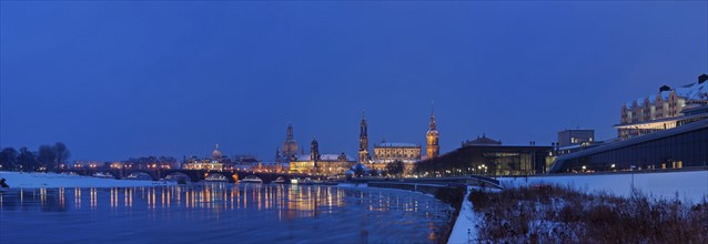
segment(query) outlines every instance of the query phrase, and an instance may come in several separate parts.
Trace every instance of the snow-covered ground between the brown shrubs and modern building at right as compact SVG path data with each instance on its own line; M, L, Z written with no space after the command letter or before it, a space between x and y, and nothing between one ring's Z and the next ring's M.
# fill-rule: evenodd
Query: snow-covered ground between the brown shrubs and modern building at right
M618 196L629 196L631 184L637 190L654 197L678 199L698 203L708 196L708 171L638 173L638 174L598 174L563 175L532 177L500 177L502 185L520 186L533 184L558 184L591 193L606 191Z

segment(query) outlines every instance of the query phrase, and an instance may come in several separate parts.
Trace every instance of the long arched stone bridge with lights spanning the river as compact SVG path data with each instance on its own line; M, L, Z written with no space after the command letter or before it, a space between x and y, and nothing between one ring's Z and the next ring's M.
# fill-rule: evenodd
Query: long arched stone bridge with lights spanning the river
M318 179L318 176L311 176L304 174L285 174L285 173L263 173L251 171L208 171L208 170L183 170L183 169L62 169L59 173L73 172L79 175L91 176L95 173L110 173L112 177L121 180L127 179L130 175L142 176L144 179L151 179L159 181L161 179L180 180L183 179L186 182L199 182L203 180L226 180L231 183L235 183L237 180L247 175L255 175L269 183L275 181L279 176L290 181L292 177L312 177Z

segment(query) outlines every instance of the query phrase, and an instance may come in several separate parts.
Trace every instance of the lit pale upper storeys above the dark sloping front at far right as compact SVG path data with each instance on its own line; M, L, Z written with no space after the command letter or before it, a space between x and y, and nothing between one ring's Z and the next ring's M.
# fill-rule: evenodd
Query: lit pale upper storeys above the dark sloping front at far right
M616 124L620 139L645 135L676 128L685 118L684 110L708 104L708 74L698 77L698 82L671 89L659 88L654 95L629 101L621 106L620 123Z

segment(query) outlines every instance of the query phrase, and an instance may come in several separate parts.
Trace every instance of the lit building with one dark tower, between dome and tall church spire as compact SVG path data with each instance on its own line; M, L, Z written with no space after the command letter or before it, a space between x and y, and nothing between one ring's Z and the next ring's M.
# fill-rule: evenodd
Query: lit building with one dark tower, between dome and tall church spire
M344 174L356 162L346 154L320 154L320 143L313 139L310 154L299 155L290 162L291 173L309 173L318 175Z

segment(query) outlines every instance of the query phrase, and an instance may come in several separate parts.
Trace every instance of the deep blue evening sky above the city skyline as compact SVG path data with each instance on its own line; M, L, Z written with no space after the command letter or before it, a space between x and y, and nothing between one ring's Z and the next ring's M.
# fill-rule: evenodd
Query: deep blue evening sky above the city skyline
M2 1L0 146L72 160L442 152L616 136L625 101L708 72L706 1Z

